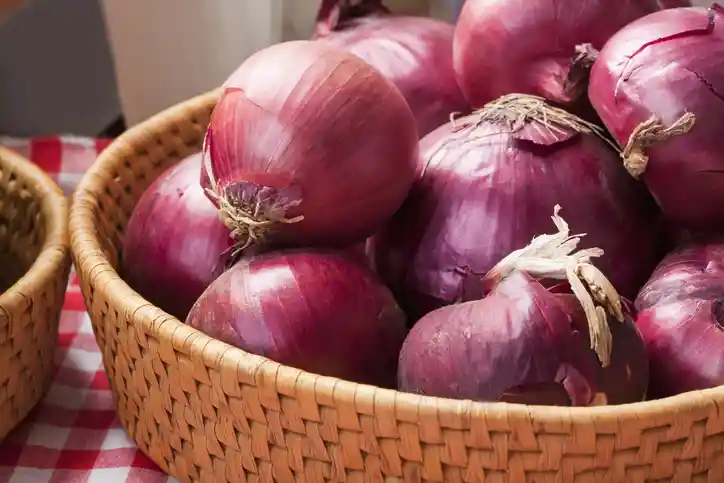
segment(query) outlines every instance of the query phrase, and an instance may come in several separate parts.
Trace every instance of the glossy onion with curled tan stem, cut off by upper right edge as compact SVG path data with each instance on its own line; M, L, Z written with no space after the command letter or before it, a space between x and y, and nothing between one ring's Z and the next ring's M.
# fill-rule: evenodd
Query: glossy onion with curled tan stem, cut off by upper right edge
M724 9L664 10L600 52L589 97L625 166L664 214L694 229L724 223Z

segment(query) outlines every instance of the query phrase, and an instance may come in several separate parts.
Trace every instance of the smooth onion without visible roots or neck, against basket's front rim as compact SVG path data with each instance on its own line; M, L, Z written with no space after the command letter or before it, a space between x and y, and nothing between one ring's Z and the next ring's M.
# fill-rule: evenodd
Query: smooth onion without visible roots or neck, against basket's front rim
M336 252L242 259L186 322L211 337L309 372L394 387L405 317L368 269Z

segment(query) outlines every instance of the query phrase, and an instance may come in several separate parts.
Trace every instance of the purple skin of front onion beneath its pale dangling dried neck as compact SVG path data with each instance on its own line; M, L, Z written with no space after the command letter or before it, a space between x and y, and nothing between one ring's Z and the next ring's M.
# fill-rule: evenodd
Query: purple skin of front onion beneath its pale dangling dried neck
M400 390L428 396L536 405L641 401L648 363L631 318L611 324L612 362L602 368L570 294L516 272L485 298L438 309L410 331ZM598 393L603 393L601 397Z

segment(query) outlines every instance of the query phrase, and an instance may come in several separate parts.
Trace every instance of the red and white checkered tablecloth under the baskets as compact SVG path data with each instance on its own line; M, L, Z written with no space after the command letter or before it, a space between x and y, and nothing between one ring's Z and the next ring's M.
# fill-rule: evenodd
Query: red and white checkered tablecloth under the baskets
M106 140L52 137L0 145L32 159L70 195ZM71 273L55 378L28 419L0 442L0 483L171 483L121 427L101 353Z

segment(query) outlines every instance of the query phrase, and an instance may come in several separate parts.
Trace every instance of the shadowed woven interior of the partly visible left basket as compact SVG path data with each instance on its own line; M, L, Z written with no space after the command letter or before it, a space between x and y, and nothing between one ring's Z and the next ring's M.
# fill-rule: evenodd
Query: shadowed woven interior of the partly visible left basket
M47 220L36 191L0 153L0 293L30 269L45 243Z

